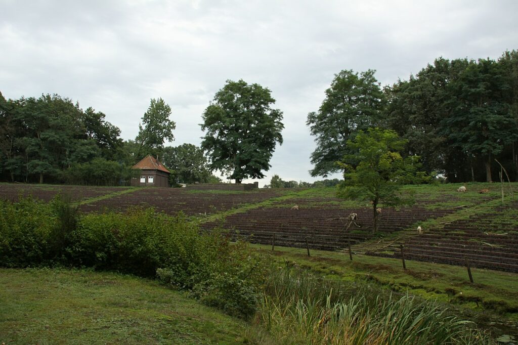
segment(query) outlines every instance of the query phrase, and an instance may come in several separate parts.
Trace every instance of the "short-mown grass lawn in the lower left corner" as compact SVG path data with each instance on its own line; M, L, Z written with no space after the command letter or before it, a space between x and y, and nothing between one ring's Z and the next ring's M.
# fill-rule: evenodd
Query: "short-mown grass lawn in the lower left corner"
M159 283L85 270L0 269L0 343L243 342L244 322Z

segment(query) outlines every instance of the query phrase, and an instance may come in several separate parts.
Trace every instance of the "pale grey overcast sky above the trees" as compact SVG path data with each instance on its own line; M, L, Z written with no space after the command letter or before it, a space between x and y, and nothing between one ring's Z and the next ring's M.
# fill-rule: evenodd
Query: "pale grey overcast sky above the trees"
M284 112L278 174L313 181L306 126L334 74L376 69L382 85L439 56L518 49L518 1L0 0L0 92L59 94L134 139L150 99L172 108L175 141L199 145L225 80L268 87ZM338 175L334 177L339 177Z

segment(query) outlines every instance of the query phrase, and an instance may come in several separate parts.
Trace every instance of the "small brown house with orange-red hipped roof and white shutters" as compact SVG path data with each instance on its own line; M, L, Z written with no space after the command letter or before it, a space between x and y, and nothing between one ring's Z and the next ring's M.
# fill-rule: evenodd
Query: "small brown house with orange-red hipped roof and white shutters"
M135 164L132 169L137 169L140 174L136 178L132 178L132 186L152 186L152 187L168 187L170 171L160 163L159 160L151 155L147 155L140 162Z

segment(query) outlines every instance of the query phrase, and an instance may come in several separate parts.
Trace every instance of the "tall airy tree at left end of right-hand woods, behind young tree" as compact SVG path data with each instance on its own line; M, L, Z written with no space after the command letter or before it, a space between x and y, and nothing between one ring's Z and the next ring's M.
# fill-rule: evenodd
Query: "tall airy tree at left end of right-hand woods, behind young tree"
M374 70L354 73L342 70L335 75L318 111L308 114L307 125L315 136L316 149L311 153L314 168L311 176L337 172L336 162L349 153L347 141L358 131L375 126L381 119L384 94Z

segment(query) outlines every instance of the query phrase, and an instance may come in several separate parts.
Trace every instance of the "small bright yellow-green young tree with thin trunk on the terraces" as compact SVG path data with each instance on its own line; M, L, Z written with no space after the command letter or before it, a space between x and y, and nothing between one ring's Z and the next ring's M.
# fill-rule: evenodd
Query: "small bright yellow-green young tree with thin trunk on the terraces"
M405 143L394 131L369 128L366 133L360 131L354 141L347 142L354 153L345 155L339 163L345 172L338 196L372 203L372 232L378 231L376 209L380 203L385 206L413 203L399 192L401 186L425 180L425 173L418 172L419 157L404 159L399 154Z

